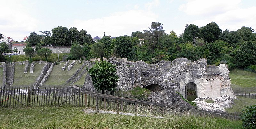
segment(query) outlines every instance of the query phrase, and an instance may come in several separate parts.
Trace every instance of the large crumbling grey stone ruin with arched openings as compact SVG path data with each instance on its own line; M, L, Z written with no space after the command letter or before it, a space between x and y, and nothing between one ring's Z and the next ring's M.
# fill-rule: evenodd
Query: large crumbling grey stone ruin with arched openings
M222 95L236 98L231 89L228 67L225 64L207 66L205 58L195 62L176 58L172 62L162 60L156 64L147 64L114 57L109 62L116 65L116 74L119 77L116 84L120 90L139 86L153 92L150 98L161 98L174 103L181 99L176 92L187 98L187 90L191 87L195 89L197 98L217 98ZM86 76L84 86L93 87L90 75Z

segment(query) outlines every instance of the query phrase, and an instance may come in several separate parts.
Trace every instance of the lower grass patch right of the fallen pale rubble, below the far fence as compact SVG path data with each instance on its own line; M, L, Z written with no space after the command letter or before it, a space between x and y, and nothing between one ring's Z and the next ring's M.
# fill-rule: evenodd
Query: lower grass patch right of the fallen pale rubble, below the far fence
M234 100L235 104L232 105L232 108L225 108L228 113L231 112L241 112L245 106L256 104L256 99L244 98L237 96L237 99Z

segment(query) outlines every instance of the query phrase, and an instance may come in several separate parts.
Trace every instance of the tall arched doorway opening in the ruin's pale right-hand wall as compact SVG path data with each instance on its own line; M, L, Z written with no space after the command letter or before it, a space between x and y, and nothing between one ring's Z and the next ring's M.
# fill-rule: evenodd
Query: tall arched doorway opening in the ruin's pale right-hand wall
M186 84L185 98L188 101L194 101L197 98L197 87L196 83L189 82Z

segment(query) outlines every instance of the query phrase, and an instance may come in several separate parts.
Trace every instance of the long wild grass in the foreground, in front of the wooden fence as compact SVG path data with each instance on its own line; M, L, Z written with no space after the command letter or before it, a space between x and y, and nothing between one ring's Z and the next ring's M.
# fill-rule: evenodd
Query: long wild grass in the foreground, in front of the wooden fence
M0 108L0 128L242 128L241 121L169 114L163 119L116 114L86 114L81 107Z

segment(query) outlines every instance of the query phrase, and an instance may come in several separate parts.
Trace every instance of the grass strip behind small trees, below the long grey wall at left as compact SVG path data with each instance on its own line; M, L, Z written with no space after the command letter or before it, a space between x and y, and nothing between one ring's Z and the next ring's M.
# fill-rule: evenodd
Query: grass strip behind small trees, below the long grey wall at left
M59 54L59 58L60 61L63 60L63 56L67 55L67 53L60 53ZM9 55L5 55L5 58L7 61L9 61ZM57 53L52 53L52 55L50 57L47 57L48 61L50 62L55 62L58 61L58 54ZM11 56L11 62L16 62L16 61L24 61L24 60L29 60L29 58L26 55L12 55ZM33 61L40 61L43 60L45 61L45 57L40 57L38 55L36 55L35 57L32 58Z

